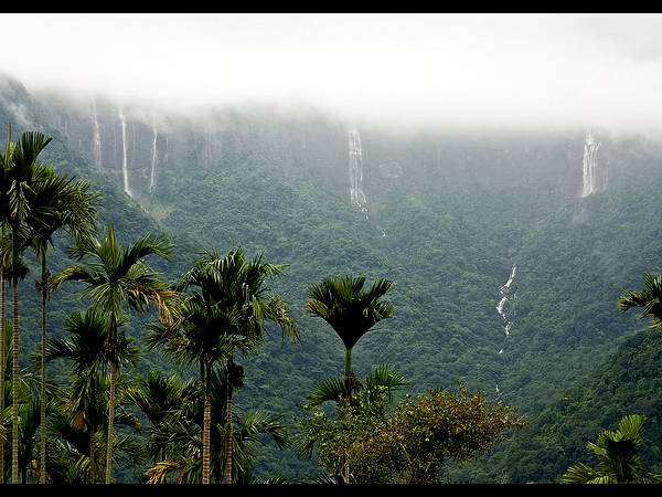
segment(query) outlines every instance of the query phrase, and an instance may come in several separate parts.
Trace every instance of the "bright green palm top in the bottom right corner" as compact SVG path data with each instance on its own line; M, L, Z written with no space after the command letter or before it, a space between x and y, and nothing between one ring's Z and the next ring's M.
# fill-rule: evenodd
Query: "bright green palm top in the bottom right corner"
M645 416L639 414L621 419L616 432L605 431L587 448L599 459L599 469L579 463L568 468L560 483L565 484L627 484L662 483L662 475L649 473L639 457Z

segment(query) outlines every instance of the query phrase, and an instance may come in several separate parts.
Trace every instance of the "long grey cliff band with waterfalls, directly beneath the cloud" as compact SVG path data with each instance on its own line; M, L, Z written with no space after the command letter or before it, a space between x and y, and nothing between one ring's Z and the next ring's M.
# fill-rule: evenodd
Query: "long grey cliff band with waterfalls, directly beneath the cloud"
M207 109L174 115L62 93L30 96L0 76L0 107L23 128L47 124L99 172L142 202L164 172L235 169L259 156L280 175L309 173L377 214L393 184L427 190L528 189L588 197L607 188L608 137L398 135L356 129L314 112ZM33 110L35 109L35 110ZM36 113L36 114L35 114ZM3 119L6 120L6 119ZM349 139L348 139L349 137ZM610 171L611 180L624 171ZM365 212L364 212L365 214Z

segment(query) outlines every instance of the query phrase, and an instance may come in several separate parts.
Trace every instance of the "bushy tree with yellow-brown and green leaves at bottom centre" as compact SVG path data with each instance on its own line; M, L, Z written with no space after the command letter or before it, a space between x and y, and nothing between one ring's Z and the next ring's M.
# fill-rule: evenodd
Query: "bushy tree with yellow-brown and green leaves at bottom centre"
M466 387L458 392L434 389L393 406L385 396L393 390L389 384L403 385L402 377L392 372L395 381L375 381L385 371L376 370L366 380L351 416L337 400L337 417L330 417L312 409L320 403L319 391L309 396L301 451L310 457L316 450L330 477L340 478L349 457L352 483L438 483L447 459L472 459L500 442L504 432L522 426L512 409L502 403L489 406L482 393L470 394ZM337 394L329 395L332 399Z

